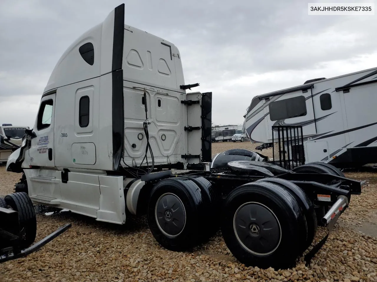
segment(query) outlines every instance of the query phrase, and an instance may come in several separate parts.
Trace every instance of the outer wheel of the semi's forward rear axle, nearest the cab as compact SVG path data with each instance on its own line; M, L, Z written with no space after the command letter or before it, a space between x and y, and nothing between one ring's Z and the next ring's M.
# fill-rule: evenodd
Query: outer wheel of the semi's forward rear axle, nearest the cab
M156 241L172 251L191 250L201 239L205 212L201 190L181 177L159 181L150 194L147 220Z

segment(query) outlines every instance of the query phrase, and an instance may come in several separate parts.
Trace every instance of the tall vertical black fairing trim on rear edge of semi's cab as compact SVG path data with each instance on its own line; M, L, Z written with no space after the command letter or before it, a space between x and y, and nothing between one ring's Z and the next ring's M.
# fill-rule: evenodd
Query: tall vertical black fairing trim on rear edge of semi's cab
M124 147L124 99L123 99L123 41L124 4L114 10L114 35L112 56L112 139L113 170L118 170Z

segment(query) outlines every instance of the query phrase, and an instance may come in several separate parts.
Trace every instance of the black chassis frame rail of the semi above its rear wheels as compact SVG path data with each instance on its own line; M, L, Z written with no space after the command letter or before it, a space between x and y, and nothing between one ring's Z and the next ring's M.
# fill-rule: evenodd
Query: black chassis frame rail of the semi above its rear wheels
M222 197L226 196L228 192L238 186L266 178L265 176L234 174L233 171L227 169L211 169L210 171L183 170L172 173L170 176L164 175L164 178L179 177L184 175L201 175L210 182L216 183L218 186L222 186L221 190L225 192ZM314 255L325 244L340 215L348 207L349 201L351 200L351 194L360 195L363 187L368 183L368 180L357 181L327 173L317 174L293 171L275 175L274 177L289 180L290 182L299 186L310 198L313 205L331 205L328 212L320 219L324 226L328 228L326 236L319 243L314 245L313 248L304 256L304 260L308 266ZM159 177L156 176L155 179L151 179L151 182L155 182L158 178ZM321 201L319 199L319 195L322 194L326 194L326 196L330 198L329 201Z

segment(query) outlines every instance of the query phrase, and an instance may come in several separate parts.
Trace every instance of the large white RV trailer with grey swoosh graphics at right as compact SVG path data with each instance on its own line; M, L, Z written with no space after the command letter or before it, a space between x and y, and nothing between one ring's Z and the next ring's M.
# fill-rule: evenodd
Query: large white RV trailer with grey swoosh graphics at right
M305 163L344 168L377 162L375 82L377 68L370 68L256 96L246 132L252 143L272 145L272 126L302 126Z

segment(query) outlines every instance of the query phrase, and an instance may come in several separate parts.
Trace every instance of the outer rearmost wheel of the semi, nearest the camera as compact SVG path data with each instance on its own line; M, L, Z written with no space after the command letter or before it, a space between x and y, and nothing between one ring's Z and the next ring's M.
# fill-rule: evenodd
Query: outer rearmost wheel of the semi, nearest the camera
M287 190L274 183L251 182L226 198L221 231L242 264L284 269L293 267L301 255L307 237L303 224L299 204Z

